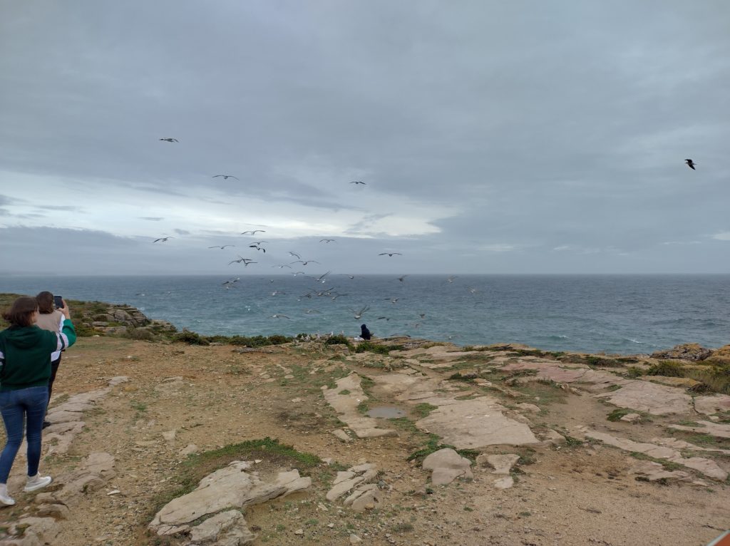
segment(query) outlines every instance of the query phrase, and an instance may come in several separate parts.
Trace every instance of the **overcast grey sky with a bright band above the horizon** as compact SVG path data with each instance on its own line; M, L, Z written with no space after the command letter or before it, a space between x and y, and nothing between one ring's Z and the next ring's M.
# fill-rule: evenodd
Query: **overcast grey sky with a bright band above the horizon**
M726 0L0 0L0 274L730 272L729 28Z

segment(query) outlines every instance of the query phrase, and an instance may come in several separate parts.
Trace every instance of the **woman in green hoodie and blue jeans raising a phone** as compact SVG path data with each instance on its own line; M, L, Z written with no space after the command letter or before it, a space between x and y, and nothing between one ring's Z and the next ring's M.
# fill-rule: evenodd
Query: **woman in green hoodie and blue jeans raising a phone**
M23 491L44 488L53 479L41 476L43 418L48 405L51 353L64 350L76 342L69 307L64 302L62 331L46 331L36 326L38 301L27 296L16 299L3 318L9 328L0 331L0 413L7 442L0 453L0 505L11 506L15 500L7 492L7 478L23 442L23 422L28 441L28 480Z

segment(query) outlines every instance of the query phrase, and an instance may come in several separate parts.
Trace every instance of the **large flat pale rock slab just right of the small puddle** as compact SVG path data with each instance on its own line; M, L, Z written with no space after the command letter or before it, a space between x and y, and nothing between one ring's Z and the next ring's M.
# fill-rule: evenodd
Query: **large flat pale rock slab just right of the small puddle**
M472 400L454 400L439 406L416 426L442 437L445 444L458 449L480 449L488 445L539 444L526 423L510 419L502 413L505 408L488 396Z

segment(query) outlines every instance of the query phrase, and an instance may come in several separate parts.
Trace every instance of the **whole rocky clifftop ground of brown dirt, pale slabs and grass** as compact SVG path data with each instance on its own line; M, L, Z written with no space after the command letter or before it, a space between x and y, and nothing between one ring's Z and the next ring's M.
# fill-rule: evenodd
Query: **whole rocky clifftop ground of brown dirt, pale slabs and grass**
M19 455L0 544L700 546L730 527L730 396L628 372L650 360L378 343L80 338L45 431L55 481L23 493Z

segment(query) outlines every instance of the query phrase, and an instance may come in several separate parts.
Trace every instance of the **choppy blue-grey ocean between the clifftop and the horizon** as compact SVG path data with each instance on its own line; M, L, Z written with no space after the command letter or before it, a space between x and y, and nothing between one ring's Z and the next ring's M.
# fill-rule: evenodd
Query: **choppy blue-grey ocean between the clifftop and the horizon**
M317 276L316 274L314 276ZM457 345L651 353L730 343L730 275L395 275L13 277L0 292L138 307L199 334L345 334L366 323ZM356 318L361 309L361 318ZM73 311L73 309L72 309ZM277 318L274 318L274 315Z

